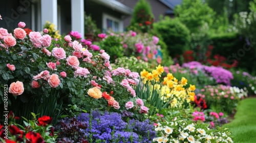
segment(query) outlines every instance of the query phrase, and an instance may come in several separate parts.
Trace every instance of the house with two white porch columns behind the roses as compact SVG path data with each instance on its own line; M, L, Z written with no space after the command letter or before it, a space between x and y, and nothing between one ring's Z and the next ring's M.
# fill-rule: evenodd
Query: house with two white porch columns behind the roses
M84 35L84 12L91 14L102 31L112 28L119 32L133 9L115 0L8 0L1 2L0 27L13 30L23 21L26 28L42 31L46 21L50 21L60 34L72 30Z

